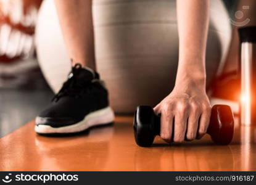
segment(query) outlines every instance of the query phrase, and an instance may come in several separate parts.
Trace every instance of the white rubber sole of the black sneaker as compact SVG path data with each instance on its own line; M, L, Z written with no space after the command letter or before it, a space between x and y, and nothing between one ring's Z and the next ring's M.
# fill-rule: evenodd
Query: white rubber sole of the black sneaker
M111 107L105 107L104 109L96 110L89 113L86 117L74 125L62 126L54 128L49 125L36 125L35 131L39 134L57 134L57 133L78 133L85 131L92 126L103 126L114 121L115 115ZM36 117L36 120L39 117Z

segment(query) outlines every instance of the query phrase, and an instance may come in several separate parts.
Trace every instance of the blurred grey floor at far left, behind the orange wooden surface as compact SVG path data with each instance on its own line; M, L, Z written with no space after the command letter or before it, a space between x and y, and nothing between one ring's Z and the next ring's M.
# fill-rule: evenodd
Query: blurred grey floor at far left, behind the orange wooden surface
M0 138L35 118L52 96L50 89L1 89Z

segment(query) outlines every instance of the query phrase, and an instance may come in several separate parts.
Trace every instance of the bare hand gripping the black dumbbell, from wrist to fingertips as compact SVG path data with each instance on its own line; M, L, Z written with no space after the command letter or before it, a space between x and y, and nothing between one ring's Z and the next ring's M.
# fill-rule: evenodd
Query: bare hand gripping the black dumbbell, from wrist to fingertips
M154 107L154 112L161 114L160 137L165 141L202 138L211 113L204 83L194 80L176 83L173 91Z

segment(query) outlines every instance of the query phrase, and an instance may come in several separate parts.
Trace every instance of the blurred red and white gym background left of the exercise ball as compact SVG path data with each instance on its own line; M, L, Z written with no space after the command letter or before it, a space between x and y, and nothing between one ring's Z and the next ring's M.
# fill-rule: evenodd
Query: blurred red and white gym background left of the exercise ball
M38 67L34 42L41 1L0 0L0 88L46 84Z

